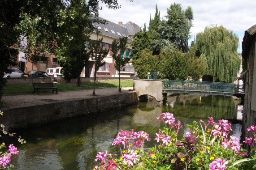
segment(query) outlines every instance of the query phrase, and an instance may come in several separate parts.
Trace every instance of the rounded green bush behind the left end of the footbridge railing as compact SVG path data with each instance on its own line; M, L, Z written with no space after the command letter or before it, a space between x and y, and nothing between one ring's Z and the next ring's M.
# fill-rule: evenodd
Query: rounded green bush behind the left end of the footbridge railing
M186 80L188 76L188 56L178 49L161 50L159 54L162 75L169 80Z

